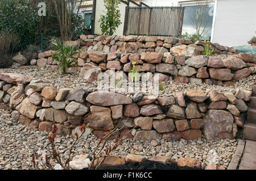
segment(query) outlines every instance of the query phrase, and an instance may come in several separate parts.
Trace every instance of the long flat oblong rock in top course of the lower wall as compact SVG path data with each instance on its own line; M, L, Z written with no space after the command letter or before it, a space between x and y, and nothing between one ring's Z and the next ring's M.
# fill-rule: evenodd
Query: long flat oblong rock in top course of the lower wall
M94 91L86 97L86 101L97 106L115 106L133 102L128 96L109 91Z

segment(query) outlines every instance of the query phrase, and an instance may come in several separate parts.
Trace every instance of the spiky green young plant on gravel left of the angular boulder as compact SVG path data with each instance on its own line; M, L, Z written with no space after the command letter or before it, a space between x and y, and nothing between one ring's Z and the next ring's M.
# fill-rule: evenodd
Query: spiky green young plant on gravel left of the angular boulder
M58 66L58 73L61 70L62 74L67 74L68 68L75 68L77 65L77 60L73 58L74 54L79 53L80 50L77 48L74 48L73 46L66 46L63 42L60 40L57 40L55 38L56 42L52 42L53 45L55 45L55 48L57 49L55 53L52 54L52 59L59 62Z

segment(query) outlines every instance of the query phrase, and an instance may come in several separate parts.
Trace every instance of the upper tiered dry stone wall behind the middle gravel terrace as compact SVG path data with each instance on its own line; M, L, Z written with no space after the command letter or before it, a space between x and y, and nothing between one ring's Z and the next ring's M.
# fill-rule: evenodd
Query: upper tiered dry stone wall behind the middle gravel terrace
M115 69L115 74L127 74L133 62L137 62L135 69L141 73L159 73L159 81L163 82L171 79L177 83L230 86L256 73L255 56L236 54L236 49L212 43L208 44L217 56L204 56L204 41L193 44L189 39L175 37L81 35L79 40L66 44L83 49L74 56L79 68L69 71L80 71L80 78L89 83L95 82L101 72L111 74L110 69ZM57 69L58 62L51 57L53 52L39 53L31 65Z

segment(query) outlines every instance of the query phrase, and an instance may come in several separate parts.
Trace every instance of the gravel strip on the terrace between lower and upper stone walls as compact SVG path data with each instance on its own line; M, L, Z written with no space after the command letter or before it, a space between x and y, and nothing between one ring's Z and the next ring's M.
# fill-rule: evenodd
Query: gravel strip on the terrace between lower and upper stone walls
M84 88L85 90L91 92L97 90L97 83L85 83L84 79L79 78L79 72L71 73L67 75L57 74L56 70L49 70L44 68L39 68L36 66L30 66L27 69L1 69L0 73L9 72L9 73L21 73L27 77L33 77L36 79L46 79L49 83L52 83L55 87L70 87L70 88ZM235 89L241 90L252 90L252 87L255 82L256 75L250 75L249 77L243 79L242 81L236 82L233 86L217 86L217 85L206 85L203 84L190 84L190 83L181 83L177 84L174 81L169 81L164 83L163 91L159 91L159 95L169 96L174 92L187 92L189 90L201 90L205 93L210 91L232 91ZM116 92L123 94L122 89L116 89ZM134 93L135 94L135 93ZM147 91L144 95L154 94L154 92Z

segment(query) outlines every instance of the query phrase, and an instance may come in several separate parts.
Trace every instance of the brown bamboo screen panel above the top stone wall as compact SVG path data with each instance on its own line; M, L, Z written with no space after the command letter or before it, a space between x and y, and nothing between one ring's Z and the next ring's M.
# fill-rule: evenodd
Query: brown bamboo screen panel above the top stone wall
M129 9L127 32L130 35L178 36L182 12L179 7L132 7Z

